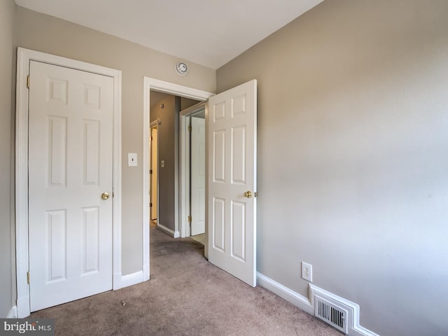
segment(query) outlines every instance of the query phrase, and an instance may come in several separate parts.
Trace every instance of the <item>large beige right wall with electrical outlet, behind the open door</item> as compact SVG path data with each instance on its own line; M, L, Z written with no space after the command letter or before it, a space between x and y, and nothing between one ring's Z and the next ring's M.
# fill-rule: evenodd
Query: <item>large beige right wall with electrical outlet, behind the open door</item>
M217 71L258 79L258 271L447 335L448 1L329 0Z

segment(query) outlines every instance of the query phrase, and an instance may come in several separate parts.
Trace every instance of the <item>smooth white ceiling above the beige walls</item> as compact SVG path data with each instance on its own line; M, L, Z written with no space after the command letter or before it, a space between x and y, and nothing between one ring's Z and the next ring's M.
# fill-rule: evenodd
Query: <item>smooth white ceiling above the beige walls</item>
M323 0L15 0L212 69Z

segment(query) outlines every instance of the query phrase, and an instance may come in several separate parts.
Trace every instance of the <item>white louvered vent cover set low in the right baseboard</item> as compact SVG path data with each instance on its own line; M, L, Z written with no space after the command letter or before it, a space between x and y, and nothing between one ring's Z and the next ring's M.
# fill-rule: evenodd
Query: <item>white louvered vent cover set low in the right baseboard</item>
M347 333L347 311L337 304L316 295L314 299L314 315L326 323Z

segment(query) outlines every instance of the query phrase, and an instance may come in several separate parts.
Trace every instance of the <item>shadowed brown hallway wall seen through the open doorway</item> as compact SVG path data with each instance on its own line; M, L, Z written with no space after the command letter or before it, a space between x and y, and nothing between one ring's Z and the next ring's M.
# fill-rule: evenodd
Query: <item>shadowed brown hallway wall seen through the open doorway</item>
M163 104L163 109L161 107ZM181 98L168 94L151 109L151 122L160 118L157 127L158 134L158 180L159 180L159 211L158 223L176 231L176 174L179 174L179 111ZM160 161L165 161L165 167Z

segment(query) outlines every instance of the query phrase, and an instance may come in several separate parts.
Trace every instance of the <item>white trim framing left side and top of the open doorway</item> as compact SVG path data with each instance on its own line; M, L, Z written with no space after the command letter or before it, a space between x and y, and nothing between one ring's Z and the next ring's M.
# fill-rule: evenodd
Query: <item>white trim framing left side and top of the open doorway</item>
M199 101L207 101L209 97L214 93L197 90L193 87L186 87L174 83L165 82L164 80L158 80L155 78L144 77L144 108L143 108L143 269L144 269L144 281L149 280L150 265L149 265L149 137L150 137L150 91L165 92L168 94L175 94L179 97L186 97L190 99L196 99ZM182 183L182 181L180 181ZM176 189L176 203L179 201L179 188ZM179 211L176 211L176 226L179 226ZM178 227L173 231L173 237L177 235L180 237L180 231ZM177 233L176 233L177 232Z

